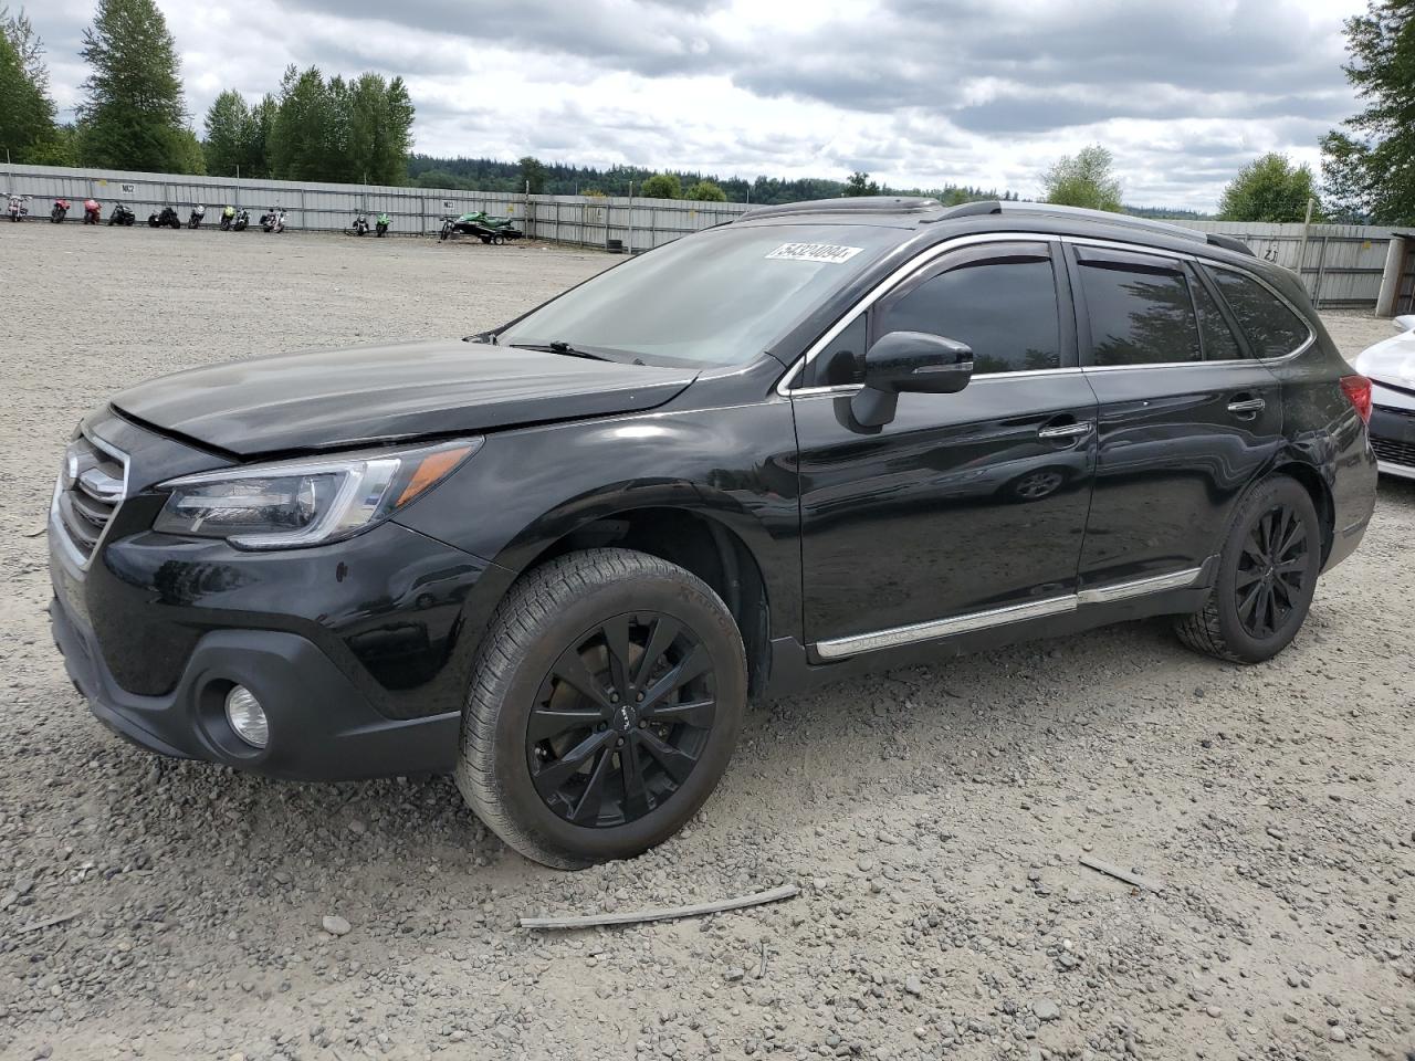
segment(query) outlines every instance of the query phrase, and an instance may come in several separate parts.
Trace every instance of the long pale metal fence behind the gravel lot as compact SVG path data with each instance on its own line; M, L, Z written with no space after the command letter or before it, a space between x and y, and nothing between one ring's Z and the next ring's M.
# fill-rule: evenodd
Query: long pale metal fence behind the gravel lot
M142 224L164 205L183 221L192 205L205 204L211 224L221 207L245 207L259 216L269 207L289 211L290 228L317 232L347 229L355 212L386 212L396 235L436 232L449 214L485 211L512 218L533 239L582 246L647 250L689 232L732 221L750 209L740 202L599 198L584 195L519 195L439 188L399 188L304 181L232 180L175 174L68 170L48 166L0 171L0 191L33 197L31 214L47 215L55 197L78 204L92 197L103 204L129 204ZM1361 225L1269 225L1228 221L1184 222L1187 228L1223 232L1245 240L1259 257L1300 269L1319 306L1374 306L1390 243L1390 229Z

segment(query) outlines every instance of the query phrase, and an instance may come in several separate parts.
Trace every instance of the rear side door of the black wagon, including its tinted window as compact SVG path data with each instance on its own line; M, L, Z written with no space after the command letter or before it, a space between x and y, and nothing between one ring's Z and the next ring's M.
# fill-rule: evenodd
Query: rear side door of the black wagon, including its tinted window
M1193 583L1282 444L1276 376L1183 256L1073 243L1081 364L1099 402L1082 590ZM1153 580L1148 586L1126 586Z

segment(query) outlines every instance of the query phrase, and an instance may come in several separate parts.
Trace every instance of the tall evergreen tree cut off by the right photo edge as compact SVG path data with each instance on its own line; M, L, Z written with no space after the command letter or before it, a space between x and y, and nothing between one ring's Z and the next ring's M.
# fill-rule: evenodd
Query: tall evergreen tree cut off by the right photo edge
M1327 198L1343 219L1415 224L1415 0L1368 0L1346 41L1365 109L1322 139Z

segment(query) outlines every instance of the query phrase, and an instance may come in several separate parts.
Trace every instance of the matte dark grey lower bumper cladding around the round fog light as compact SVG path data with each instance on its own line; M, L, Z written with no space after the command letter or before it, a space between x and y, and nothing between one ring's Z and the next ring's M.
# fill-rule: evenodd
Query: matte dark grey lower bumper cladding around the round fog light
M300 781L453 768L457 712L388 719L297 634L211 631L197 642L170 693L139 696L113 680L93 632L57 597L50 622L69 679L98 720L149 751ZM265 707L270 721L265 748L245 744L226 724L225 695L232 685L250 689Z

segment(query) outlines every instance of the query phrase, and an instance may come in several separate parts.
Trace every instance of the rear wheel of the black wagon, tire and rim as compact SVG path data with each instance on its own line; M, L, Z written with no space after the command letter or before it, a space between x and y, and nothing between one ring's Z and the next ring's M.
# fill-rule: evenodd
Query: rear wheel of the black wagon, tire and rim
M1288 475L1266 478L1240 502L1214 587L1201 611L1176 621L1179 639L1232 663L1271 659L1302 628L1320 570L1312 497Z

